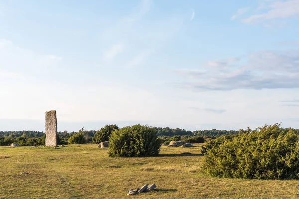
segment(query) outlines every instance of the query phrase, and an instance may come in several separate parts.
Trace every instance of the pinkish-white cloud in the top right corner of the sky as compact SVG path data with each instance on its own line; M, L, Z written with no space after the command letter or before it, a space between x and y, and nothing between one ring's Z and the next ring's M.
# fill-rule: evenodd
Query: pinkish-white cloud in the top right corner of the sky
M267 9L267 11L260 14L253 14L247 18L242 19L244 23L255 23L271 19L285 19L299 16L299 0L275 0L264 1L259 10Z

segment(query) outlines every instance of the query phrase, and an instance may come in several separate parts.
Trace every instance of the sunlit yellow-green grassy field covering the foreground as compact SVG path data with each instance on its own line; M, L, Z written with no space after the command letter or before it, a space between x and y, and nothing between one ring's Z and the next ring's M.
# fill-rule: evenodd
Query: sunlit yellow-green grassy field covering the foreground
M0 147L0 199L299 198L298 181L202 175L200 148L161 147L159 157L109 158L107 149L93 144ZM146 183L158 190L127 196Z

